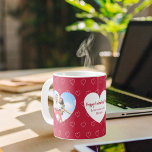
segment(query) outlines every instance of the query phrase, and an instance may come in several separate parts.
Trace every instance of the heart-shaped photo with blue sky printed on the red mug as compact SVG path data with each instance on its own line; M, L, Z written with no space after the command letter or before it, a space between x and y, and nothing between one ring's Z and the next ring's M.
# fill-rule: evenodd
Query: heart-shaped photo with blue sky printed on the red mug
M54 90L53 102L54 114L60 123L68 119L75 110L76 99L74 95L69 92L64 92L59 95L59 93Z

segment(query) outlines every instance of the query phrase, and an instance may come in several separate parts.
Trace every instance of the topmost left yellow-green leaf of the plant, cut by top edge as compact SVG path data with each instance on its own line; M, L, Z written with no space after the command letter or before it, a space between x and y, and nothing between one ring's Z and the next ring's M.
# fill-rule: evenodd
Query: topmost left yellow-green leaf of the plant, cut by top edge
M83 11L86 11L88 13L94 13L95 9L90 4L84 2L83 0L65 0L67 3L69 3L72 6L75 6Z

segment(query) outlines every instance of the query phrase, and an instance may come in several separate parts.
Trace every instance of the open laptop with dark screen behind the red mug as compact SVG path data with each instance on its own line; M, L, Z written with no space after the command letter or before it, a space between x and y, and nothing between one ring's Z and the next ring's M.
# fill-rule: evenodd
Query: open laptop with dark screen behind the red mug
M107 88L107 119L152 114L152 21L132 21Z

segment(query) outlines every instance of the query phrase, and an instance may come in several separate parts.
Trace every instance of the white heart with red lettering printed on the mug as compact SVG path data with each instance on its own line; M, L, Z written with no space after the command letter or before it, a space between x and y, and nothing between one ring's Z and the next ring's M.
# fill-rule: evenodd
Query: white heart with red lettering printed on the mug
M106 90L100 97L95 92L89 93L84 99L84 106L89 116L100 123L106 112Z

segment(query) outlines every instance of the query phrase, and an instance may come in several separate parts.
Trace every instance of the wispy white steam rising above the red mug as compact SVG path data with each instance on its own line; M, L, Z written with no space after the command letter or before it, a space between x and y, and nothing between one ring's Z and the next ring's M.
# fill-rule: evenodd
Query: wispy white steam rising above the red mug
M92 66L90 52L93 47L93 42L94 34L90 34L90 36L80 44L80 47L76 53L77 57L85 57L84 66Z

